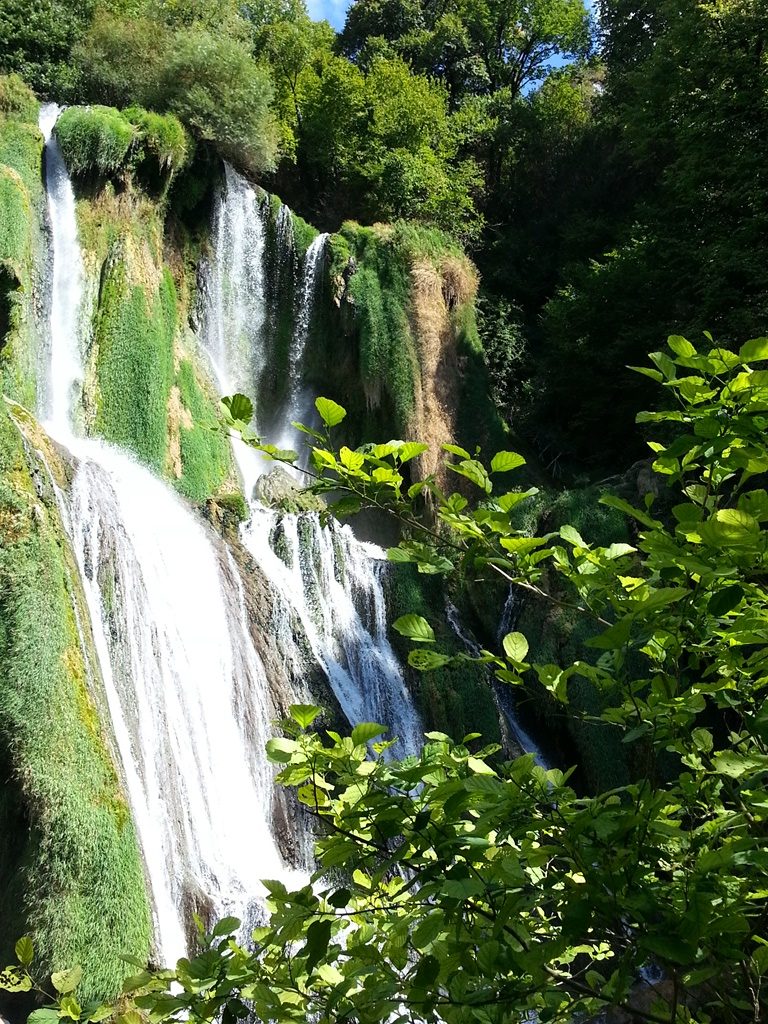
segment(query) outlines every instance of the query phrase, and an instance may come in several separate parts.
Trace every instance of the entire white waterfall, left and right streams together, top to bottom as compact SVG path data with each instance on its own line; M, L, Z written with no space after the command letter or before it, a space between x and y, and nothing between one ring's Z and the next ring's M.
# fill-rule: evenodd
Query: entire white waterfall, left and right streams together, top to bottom
M40 117L52 248L41 414L77 460L69 495L58 496L61 515L144 858L156 954L173 963L187 951L191 910L253 921L261 879L295 881L271 831L264 743L275 709L230 553L130 455L80 435L85 274L75 197L53 133L58 113L46 104ZM263 218L254 190L227 168L205 332L222 391L248 393L266 370ZM279 227L279 245L292 246L290 211ZM305 398L302 360L324 250L321 236L296 291L286 437ZM265 462L243 444L236 455L251 495ZM347 527L322 526L314 514L282 515L255 500L251 507L243 540L273 591L274 634L297 691L305 695L307 673L319 666L350 722L380 721L401 751L417 750L421 725L386 637L383 552Z

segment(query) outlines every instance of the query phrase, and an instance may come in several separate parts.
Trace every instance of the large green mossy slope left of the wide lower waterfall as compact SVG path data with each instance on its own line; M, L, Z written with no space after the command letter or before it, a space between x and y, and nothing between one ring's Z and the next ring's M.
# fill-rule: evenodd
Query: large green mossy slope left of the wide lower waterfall
M1 404L1 403L0 403ZM79 963L81 998L145 959L139 848L88 688L74 562L0 408L0 955L24 932L44 972Z

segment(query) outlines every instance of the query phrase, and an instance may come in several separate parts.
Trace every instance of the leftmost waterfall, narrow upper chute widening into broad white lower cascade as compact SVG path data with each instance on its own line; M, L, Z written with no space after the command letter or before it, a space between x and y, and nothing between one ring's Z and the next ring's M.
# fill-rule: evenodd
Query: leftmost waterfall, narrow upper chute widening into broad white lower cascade
M203 525L126 454L74 435L83 273L51 136L56 114L41 113L53 247L49 430L79 460L62 518L145 859L157 951L173 962L187 948L189 909L252 918L260 880L288 874L263 755L274 713L242 593Z

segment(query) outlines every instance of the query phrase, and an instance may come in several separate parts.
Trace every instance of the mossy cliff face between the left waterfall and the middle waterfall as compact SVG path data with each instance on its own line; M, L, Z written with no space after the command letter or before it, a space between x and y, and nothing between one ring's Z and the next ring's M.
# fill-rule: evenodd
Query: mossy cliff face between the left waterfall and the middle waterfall
M78 191L92 283L87 431L132 452L194 502L237 489L228 441L212 429L216 398L188 328L195 267L184 240L167 260L162 203L133 189L118 193L109 181L95 193Z

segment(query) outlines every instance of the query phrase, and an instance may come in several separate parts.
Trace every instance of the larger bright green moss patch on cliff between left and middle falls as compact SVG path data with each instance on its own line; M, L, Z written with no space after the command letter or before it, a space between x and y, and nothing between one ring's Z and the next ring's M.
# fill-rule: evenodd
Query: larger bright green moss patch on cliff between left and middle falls
M117 243L104 267L95 325L95 430L163 472L173 379L176 291L165 270L158 291L129 280Z

